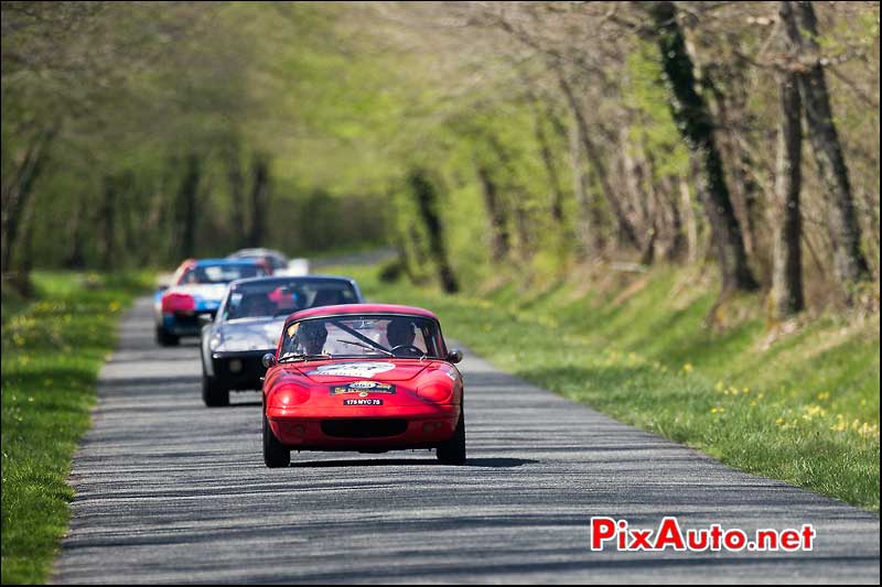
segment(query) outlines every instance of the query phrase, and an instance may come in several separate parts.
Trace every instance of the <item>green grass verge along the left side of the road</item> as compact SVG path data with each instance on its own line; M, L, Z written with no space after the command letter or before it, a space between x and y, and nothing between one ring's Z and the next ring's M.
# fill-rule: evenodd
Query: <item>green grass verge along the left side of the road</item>
M2 583L45 583L67 530L71 458L89 427L115 326L150 275L36 272L35 300L3 289Z

